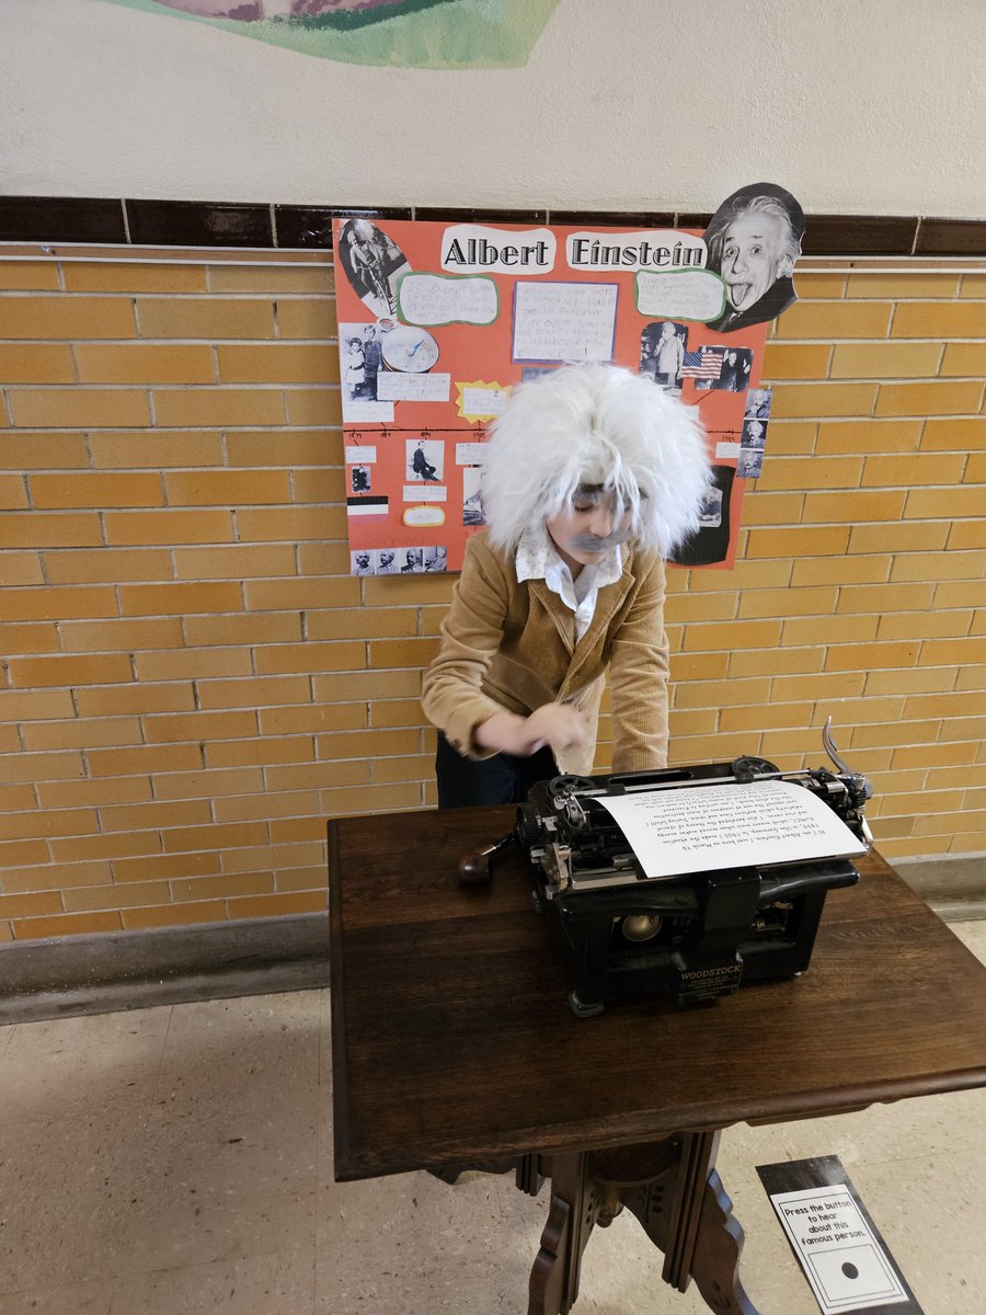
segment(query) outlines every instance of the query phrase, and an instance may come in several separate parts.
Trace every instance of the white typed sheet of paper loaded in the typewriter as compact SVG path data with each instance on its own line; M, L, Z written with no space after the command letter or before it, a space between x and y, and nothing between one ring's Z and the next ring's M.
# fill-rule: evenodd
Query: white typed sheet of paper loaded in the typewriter
M648 877L865 853L843 819L791 781L599 797Z

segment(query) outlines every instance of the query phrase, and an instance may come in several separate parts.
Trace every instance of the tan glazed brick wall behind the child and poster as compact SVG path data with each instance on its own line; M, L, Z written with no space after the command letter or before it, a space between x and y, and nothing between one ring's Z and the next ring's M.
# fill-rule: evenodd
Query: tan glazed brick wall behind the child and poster
M0 287L0 939L322 909L326 817L434 800L451 588L346 573L331 271ZM673 759L831 713L883 853L986 851L986 276L799 287L736 568L670 576Z

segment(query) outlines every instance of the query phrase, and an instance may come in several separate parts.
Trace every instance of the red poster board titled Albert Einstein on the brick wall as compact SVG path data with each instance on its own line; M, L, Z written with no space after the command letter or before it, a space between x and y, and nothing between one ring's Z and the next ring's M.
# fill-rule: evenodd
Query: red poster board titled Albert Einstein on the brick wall
M795 300L802 233L798 203L768 183L705 233L335 220L352 573L458 571L485 525L486 426L518 384L585 360L697 408L715 485L676 560L732 565L766 439L764 343Z

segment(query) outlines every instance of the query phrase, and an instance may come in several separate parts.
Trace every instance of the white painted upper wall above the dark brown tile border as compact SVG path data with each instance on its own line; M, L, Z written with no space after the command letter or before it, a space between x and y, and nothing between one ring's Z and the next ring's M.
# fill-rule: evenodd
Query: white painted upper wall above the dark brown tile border
M561 0L461 72L0 0L0 193L981 217L985 50L983 0Z

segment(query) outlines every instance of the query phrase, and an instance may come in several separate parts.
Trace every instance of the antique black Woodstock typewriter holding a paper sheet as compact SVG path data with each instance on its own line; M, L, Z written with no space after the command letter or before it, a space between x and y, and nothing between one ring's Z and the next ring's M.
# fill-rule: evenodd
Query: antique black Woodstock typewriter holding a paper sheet
M557 776L532 788L513 835L486 853L513 839L530 855L534 906L557 930L576 1015L588 1018L619 1001L713 1001L734 994L740 984L793 977L809 967L826 894L858 881L851 859L872 842L862 815L869 781L839 757L828 723L823 743L835 771L778 772L765 759L739 757L621 776ZM773 782L781 784L780 792ZM765 785L766 793L759 789ZM695 793L714 788L714 794ZM799 796L802 789L814 800ZM677 790L689 792L690 815L702 819L698 831L714 830L716 817L735 818L749 806L759 818L753 838L763 843L739 852L760 857L730 865L713 859L702 867L702 846L678 853L672 843L670 871L648 874L642 847L635 849L614 811L624 806L621 801L647 796L628 806L643 803L644 827L664 827L667 835L685 801L667 793ZM770 805L766 813L764 802ZM806 834L826 831L826 838L805 846L789 839L778 849L770 810L809 802L823 825L810 818ZM801 826L798 821L795 830ZM728 832L730 823L723 830ZM705 857L715 852L706 849ZM722 852L732 851L727 846Z

